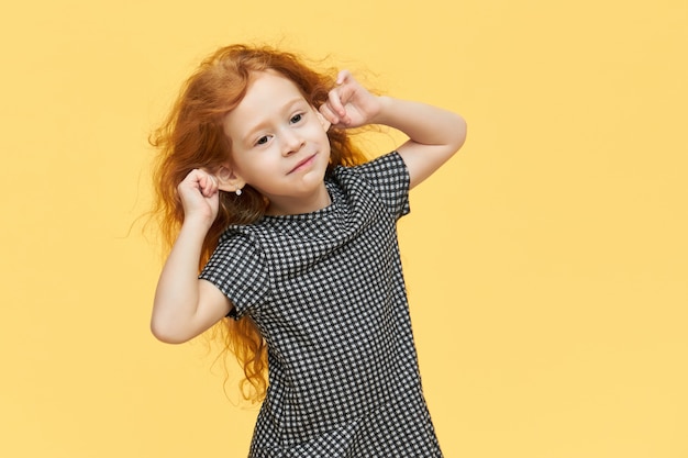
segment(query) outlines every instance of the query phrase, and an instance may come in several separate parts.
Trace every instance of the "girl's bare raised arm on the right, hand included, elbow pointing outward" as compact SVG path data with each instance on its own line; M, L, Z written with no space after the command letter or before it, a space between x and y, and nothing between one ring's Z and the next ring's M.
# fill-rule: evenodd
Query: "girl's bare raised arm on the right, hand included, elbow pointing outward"
M322 115L335 127L381 124L403 132L409 139L397 150L409 169L411 188L446 163L466 139L466 122L456 113L421 102L374 96L347 70L340 72L336 83L320 108Z

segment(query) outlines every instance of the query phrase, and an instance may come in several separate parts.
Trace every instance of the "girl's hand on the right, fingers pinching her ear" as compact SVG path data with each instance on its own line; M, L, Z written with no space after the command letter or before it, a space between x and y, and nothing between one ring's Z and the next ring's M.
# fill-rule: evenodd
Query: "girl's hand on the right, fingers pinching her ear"
M380 99L360 86L348 70L342 70L336 87L319 110L334 127L349 129L374 123L380 109Z

